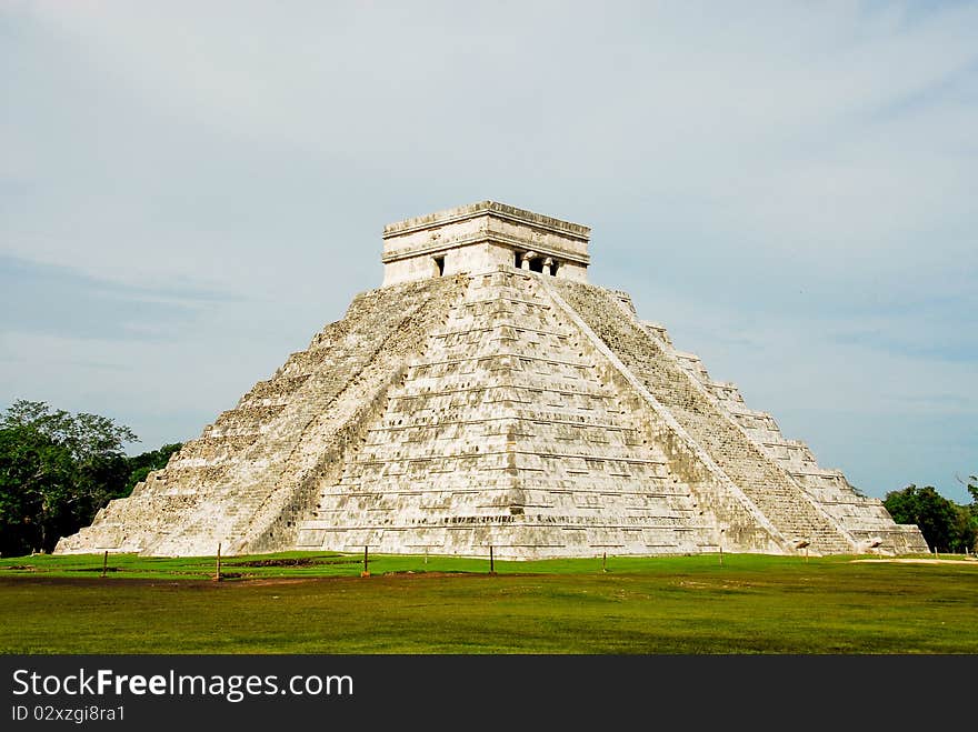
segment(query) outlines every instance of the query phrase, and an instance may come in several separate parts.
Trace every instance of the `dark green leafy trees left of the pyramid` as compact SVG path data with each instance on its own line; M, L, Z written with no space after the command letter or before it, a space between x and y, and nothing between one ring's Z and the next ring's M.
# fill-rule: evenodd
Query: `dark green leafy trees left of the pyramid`
M50 552L181 447L127 455L138 441L107 417L16 401L0 418L0 555Z

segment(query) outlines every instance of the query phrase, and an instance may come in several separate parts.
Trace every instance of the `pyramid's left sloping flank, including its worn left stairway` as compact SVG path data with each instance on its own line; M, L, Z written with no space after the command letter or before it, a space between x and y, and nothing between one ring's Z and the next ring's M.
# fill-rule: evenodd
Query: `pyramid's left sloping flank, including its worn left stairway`
M221 544L230 554L271 548L276 537L286 542L279 549L290 545L308 475L341 453L357 420L459 287L443 278L359 295L343 320L293 353L130 498L112 501L91 527L62 539L56 552L192 555L212 554ZM267 419L256 402L280 409Z

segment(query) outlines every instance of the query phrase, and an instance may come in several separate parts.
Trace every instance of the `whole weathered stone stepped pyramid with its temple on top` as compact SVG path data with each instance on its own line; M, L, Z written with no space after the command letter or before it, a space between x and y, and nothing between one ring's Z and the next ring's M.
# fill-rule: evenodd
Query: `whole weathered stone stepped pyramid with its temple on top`
M56 553L927 551L589 284L589 234L492 201L386 227L383 287Z

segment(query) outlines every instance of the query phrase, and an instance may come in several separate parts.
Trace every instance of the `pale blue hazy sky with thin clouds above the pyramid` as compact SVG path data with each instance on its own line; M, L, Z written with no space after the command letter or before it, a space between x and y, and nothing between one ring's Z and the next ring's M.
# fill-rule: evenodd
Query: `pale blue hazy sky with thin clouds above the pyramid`
M0 407L197 437L492 199L870 495L978 472L978 3L0 0Z

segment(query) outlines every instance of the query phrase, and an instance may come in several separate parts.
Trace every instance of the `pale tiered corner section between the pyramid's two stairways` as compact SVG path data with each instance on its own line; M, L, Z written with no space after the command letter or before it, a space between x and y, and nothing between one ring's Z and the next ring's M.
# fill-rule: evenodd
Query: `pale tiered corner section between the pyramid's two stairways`
M500 558L716 551L719 534L602 382L539 275L471 278L388 397L303 549Z

